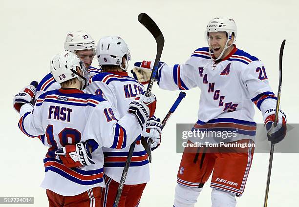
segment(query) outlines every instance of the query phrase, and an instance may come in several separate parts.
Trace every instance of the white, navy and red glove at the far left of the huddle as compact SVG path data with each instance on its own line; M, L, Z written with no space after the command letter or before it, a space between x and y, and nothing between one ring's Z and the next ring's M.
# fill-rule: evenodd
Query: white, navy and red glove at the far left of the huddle
M20 113L20 109L23 104L31 104L37 86L38 83L33 81L30 83L30 85L27 85L19 93L17 93L17 95L15 95L13 107L18 113Z

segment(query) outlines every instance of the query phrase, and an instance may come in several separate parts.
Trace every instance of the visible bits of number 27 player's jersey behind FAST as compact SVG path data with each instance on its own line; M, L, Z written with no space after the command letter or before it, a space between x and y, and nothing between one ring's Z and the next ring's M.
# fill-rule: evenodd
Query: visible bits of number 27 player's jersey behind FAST
M97 69L95 67L88 67L87 69L89 73L89 77L92 77L101 72L101 69ZM51 73L48 73L42 81L38 84L35 92L35 99L37 99L40 95L42 95L46 91L60 89L61 85L57 83Z

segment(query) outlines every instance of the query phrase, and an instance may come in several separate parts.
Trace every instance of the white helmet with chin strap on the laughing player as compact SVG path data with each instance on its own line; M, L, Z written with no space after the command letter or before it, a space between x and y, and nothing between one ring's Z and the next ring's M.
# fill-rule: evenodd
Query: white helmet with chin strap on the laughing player
M212 58L211 46L209 42L209 32L226 32L227 34L227 41L225 43L225 48L222 50L221 54L217 59ZM227 45L228 42L232 39L233 33L234 33L234 41L232 42L232 44ZM209 21L205 36L210 46L210 56L214 61L219 60L222 57L224 51L235 43L236 35L237 35L237 27L233 18L217 17Z

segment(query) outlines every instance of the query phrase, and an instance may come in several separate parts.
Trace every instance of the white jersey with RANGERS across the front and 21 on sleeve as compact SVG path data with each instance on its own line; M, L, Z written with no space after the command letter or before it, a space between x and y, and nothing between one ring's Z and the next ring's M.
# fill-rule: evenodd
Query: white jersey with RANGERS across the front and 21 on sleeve
M223 142L254 140L253 105L263 114L276 106L277 98L269 86L264 64L235 45L218 63L210 58L209 48L204 47L195 50L184 64L163 66L158 71L158 84L167 90L199 87L198 121L194 129L237 132ZM195 142L196 138L190 140Z

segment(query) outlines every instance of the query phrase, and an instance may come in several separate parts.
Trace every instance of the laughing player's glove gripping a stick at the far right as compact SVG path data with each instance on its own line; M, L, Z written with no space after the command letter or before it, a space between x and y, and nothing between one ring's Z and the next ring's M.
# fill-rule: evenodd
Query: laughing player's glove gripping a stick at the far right
M286 115L280 109L278 112L278 123L274 126L275 109L269 109L265 112L264 122L267 130L268 140L272 144L277 144L286 134Z

